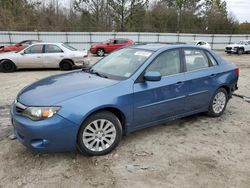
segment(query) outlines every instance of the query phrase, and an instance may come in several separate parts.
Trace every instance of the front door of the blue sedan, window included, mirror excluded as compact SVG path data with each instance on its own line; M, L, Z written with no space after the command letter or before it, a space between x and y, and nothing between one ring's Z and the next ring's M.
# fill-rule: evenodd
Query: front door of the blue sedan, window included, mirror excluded
M179 50L160 54L147 71L160 72L162 79L134 84L134 121L138 127L180 115L185 107L187 88Z

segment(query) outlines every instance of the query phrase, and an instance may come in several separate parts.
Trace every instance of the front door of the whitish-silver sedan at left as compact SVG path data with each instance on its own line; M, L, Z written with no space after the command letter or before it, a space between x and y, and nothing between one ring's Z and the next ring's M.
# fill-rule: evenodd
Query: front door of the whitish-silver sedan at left
M20 68L42 68L43 67L43 46L42 44L33 45L23 53L20 53L18 67Z

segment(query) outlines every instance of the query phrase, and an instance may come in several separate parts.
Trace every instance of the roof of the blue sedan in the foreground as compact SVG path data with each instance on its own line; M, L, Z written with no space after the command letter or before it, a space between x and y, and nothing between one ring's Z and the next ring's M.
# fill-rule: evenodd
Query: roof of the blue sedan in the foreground
M190 48L199 48L193 45L186 45L186 44L161 44L161 43L152 43L152 44L139 44L133 45L130 48L142 49L142 50L150 50L150 51L158 51L161 49L174 49L174 48L182 48L182 47L190 47ZM201 48L203 49L203 48Z

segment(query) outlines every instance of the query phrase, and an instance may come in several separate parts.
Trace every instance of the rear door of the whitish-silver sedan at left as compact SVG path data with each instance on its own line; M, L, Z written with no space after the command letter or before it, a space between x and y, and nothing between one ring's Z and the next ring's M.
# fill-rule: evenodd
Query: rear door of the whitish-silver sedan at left
M58 45L44 45L44 67L58 68L62 59L64 59L64 51Z

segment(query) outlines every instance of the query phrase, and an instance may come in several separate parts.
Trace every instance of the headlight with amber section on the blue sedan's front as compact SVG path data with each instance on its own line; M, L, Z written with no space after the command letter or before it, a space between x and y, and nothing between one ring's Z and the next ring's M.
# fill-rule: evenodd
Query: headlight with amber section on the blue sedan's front
M23 115L34 120L44 120L54 116L60 107L28 107L23 111Z

